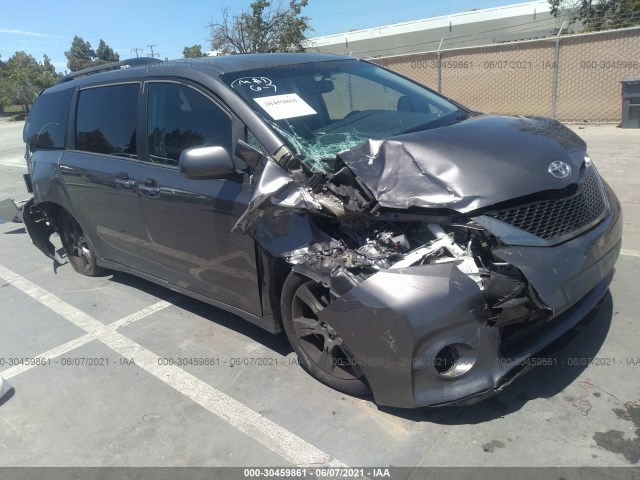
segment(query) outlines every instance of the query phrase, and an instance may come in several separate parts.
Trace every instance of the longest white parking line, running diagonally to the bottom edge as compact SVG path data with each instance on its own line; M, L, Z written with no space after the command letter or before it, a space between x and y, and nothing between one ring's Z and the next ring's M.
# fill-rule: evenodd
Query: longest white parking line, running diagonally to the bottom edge
M159 365L160 357L158 355L115 331L115 328L118 328L119 325L114 327L114 325L103 324L89 314L1 265L0 278L82 328L93 338L100 340L123 357L132 358L140 368L292 464L346 466L338 460L331 459L327 453L305 442L287 429L263 417L246 405L234 400L181 368L175 365Z

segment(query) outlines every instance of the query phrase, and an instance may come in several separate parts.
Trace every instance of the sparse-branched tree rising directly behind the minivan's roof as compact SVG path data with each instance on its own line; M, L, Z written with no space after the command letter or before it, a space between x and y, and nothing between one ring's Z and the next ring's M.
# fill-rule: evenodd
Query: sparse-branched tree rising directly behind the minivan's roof
M302 15L308 0L290 0L287 8L271 8L256 0L249 11L230 14L223 9L219 22L209 23L211 48L223 53L303 52L309 17Z

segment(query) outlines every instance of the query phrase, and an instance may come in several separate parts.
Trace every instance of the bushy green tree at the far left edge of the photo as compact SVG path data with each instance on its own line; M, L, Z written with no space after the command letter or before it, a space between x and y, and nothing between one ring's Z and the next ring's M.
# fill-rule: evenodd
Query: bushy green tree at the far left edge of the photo
M0 69L0 99L4 105L22 105L25 112L36 95L54 85L60 75L49 57L42 62L25 52L16 52Z

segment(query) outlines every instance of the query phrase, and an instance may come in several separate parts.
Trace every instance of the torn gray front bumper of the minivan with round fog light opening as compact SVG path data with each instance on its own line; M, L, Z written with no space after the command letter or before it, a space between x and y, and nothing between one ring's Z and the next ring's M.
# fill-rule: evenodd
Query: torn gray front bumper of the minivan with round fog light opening
M531 357L582 320L613 278L621 246L620 205L591 230L553 247L509 246L496 256L518 267L553 315L506 346L478 285L453 264L383 270L325 308L320 317L348 345L380 405L412 408L475 403L527 371ZM438 370L448 345L472 349L459 376ZM464 370L464 369L463 369Z

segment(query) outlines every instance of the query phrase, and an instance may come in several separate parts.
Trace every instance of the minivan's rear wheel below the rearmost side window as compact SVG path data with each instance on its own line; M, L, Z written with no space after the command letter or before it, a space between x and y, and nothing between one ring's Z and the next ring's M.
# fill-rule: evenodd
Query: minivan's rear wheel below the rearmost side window
M73 269L87 277L102 274L104 270L96 264L93 246L78 221L69 212L62 210L56 223L62 246Z

